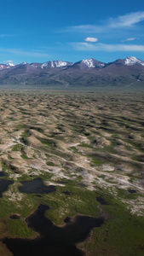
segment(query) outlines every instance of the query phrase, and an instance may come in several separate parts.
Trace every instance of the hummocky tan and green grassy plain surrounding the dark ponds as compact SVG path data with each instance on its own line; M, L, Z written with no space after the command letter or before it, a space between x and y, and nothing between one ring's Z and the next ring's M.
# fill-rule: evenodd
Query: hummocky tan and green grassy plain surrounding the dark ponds
M129 90L3 90L0 178L14 183L0 198L1 239L35 237L25 218L46 204L56 225L77 214L106 218L78 244L86 255L144 255L143 102ZM20 193L36 177L56 191ZM11 255L3 243L1 251Z

